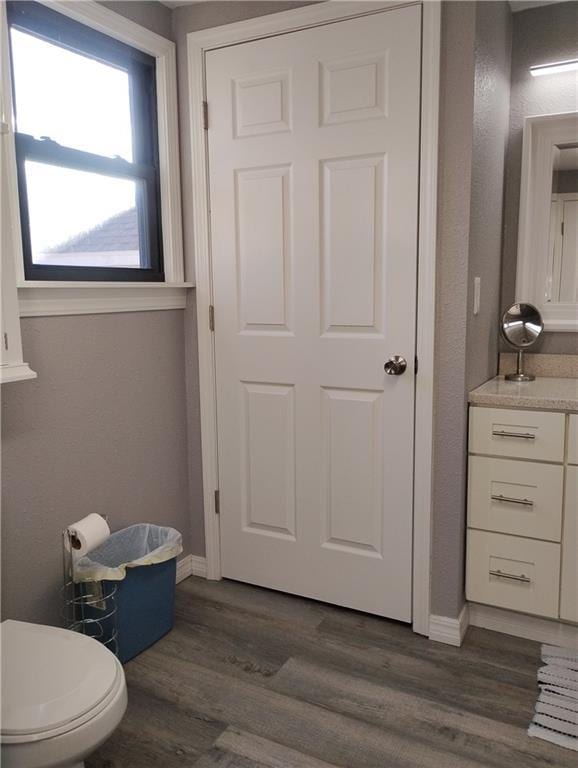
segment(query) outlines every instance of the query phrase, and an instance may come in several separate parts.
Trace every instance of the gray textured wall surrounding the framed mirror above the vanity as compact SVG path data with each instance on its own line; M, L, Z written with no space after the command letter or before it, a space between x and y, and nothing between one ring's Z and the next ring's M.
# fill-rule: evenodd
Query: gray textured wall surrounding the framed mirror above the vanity
M504 308L512 303L515 294L524 118L528 115L578 109L575 72L532 77L529 68L533 64L576 58L577 28L578 2L556 3L513 15L512 93L502 271ZM545 333L533 351L577 354L578 334Z

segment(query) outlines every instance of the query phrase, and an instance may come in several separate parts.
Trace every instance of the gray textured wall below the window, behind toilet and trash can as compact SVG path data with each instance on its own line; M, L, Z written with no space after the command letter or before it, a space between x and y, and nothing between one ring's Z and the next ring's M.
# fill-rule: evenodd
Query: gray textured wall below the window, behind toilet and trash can
M172 525L190 551L182 311L22 320L2 387L2 611L55 623L66 524Z

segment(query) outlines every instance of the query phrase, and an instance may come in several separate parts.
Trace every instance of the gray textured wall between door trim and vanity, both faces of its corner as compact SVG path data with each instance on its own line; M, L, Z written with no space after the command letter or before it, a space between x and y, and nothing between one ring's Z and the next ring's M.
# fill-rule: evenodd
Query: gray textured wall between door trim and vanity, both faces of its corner
M456 617L464 602L467 393L498 370L510 16L506 2L443 6L432 540L441 616Z

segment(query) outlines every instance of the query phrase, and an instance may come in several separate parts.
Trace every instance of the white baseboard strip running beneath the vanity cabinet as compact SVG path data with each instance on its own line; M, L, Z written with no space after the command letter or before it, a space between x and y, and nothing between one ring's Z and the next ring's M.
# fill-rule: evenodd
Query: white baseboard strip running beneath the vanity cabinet
M578 626L564 624L554 619L541 619L525 613L494 608L491 605L469 603L470 624L473 627L492 629L505 635L524 637L548 645L578 648Z

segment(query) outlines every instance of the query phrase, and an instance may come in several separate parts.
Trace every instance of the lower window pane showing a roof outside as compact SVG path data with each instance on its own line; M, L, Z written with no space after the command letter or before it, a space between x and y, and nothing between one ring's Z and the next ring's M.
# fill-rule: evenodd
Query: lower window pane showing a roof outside
M27 160L33 264L141 264L137 194L142 182Z

